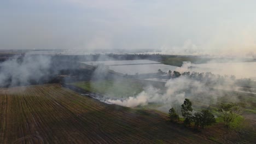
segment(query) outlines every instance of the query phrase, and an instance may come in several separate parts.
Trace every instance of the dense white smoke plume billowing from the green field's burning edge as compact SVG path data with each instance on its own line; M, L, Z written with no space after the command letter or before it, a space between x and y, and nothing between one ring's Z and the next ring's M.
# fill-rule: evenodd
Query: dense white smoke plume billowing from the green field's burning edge
M199 98L200 93L210 92L210 88L205 86L205 83L188 79L185 76L171 79L165 84L165 91L162 92L158 88L152 86L146 87L143 92L139 93L135 97L129 97L124 100L107 100L108 103L123 105L127 107L135 107L138 105L147 105L148 103L160 103L163 106L160 110L167 111L165 106L170 109L170 106L176 106L183 103L185 98ZM206 104L214 101L217 98L206 98L203 96L201 99L205 99Z

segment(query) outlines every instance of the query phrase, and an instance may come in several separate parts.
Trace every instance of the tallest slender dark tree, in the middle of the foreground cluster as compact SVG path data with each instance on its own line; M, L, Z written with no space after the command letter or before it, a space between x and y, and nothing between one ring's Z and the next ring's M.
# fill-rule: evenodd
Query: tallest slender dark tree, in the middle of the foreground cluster
M192 103L189 99L185 99L181 107L182 116L185 118L184 124L190 125L192 118Z

